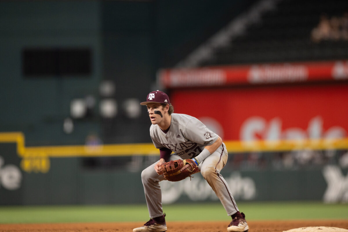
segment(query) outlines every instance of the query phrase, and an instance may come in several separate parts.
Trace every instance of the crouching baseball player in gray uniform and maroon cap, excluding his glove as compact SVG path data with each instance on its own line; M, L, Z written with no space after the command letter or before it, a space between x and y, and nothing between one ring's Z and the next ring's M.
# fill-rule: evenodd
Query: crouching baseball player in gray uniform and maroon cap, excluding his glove
M192 159L198 165L201 175L220 199L227 215L232 217L227 231L247 232L249 226L245 215L239 212L230 188L220 174L228 158L222 139L198 119L187 114L173 113L174 108L169 97L162 91L149 93L146 102L140 104L147 106L152 123L150 136L155 147L159 149L160 160L141 173L150 220L133 229L133 232L167 230L159 185L165 178L159 167L162 163L177 159ZM188 166L187 164L185 167Z

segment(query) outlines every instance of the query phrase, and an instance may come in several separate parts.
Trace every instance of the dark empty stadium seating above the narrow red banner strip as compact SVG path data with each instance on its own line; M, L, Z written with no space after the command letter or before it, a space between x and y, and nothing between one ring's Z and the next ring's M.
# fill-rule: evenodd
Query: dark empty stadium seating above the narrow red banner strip
M283 0L246 33L217 47L199 66L347 59L348 40L311 39L321 15L342 18L348 1Z

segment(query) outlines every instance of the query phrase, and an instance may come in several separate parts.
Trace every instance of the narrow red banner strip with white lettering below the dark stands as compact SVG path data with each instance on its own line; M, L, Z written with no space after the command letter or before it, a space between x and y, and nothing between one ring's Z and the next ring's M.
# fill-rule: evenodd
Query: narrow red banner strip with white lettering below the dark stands
M164 88L233 86L241 84L311 82L348 79L348 61L297 62L163 69L157 75Z

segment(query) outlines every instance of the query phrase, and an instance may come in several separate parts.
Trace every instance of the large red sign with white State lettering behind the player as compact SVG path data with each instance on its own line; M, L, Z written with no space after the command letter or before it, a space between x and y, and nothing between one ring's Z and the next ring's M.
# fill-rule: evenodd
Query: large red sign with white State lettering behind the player
M224 140L344 138L348 85L172 89L175 113L190 114Z

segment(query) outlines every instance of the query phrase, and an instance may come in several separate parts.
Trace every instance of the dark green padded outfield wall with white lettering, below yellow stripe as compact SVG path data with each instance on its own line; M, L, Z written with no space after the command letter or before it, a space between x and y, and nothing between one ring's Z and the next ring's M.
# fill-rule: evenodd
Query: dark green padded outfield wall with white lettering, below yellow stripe
M21 157L13 142L0 143L0 150L0 205L145 203L141 171L158 159L156 155ZM345 153L337 151L333 158L340 154ZM236 166L238 155L246 158L240 166ZM221 174L236 200L347 202L348 169L335 159L323 165L279 168L272 163L278 153L260 155L265 159L252 165L245 162L250 153L229 154ZM31 169L27 169L28 160ZM193 176L161 182L163 202L218 201L203 177Z

